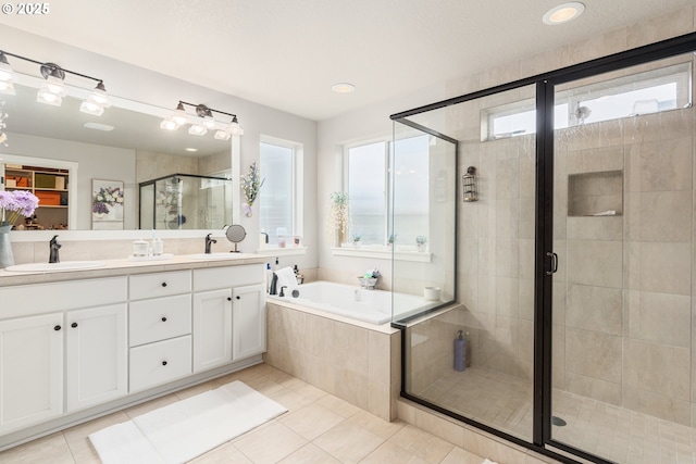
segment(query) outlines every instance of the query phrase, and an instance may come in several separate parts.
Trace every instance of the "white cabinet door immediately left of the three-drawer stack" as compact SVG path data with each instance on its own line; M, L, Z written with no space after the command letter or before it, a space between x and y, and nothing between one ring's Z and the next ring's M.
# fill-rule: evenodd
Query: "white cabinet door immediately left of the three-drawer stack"
M126 311L120 303L67 313L69 413L127 393Z

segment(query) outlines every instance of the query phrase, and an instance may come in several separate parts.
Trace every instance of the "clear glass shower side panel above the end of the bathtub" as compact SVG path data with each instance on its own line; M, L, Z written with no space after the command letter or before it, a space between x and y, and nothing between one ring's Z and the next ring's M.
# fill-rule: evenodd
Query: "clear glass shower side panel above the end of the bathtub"
M457 145L400 123L394 135L388 234L400 322L455 300Z

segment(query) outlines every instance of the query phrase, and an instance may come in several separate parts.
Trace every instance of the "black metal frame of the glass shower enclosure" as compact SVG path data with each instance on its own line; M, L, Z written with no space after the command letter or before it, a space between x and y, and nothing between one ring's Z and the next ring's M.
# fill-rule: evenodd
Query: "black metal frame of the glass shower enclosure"
M659 42L586 61L536 76L506 83L413 110L393 114L393 121L403 123L407 117L438 110L519 87L536 86L536 210L535 210L535 284L534 284L534 386L532 442L498 430L486 424L464 417L452 411L412 396L406 391L406 329L401 329L401 397L442 414L496 435L512 443L529 448L564 463L571 457L548 447L595 463L611 463L584 450L554 440L551 437L551 328L554 263L554 104L558 85L638 64L696 51L696 33L673 37ZM402 121L400 121L402 120ZM406 124L406 123L405 123Z

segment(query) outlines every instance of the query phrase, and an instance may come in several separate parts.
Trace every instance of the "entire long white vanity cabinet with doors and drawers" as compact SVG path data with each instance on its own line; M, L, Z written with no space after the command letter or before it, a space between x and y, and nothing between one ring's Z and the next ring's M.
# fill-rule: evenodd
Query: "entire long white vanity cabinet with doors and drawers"
M0 449L262 362L256 258L138 267L0 275Z

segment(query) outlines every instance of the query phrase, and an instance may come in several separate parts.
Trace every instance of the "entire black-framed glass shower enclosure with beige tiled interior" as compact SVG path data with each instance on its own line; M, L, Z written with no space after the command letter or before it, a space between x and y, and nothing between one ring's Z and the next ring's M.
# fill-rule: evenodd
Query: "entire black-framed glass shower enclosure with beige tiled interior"
M391 116L396 172L401 139L456 153L456 170L423 153L432 261L395 256L395 290L453 303L400 318L395 297L403 397L564 462L695 462L695 49L691 35Z

